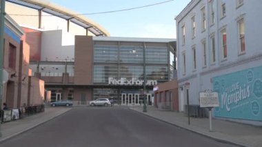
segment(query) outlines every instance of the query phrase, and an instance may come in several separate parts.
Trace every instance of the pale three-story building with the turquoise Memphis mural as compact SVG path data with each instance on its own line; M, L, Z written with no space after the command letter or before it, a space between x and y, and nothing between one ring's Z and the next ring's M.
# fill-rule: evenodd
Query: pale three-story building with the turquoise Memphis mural
M177 16L179 110L219 92L214 117L262 121L262 1L192 0Z

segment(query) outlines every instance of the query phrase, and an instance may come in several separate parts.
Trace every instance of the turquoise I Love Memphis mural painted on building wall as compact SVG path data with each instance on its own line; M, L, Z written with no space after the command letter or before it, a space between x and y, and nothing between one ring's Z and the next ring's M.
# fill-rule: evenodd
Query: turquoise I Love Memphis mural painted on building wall
M262 66L213 78L220 106L214 116L262 121Z

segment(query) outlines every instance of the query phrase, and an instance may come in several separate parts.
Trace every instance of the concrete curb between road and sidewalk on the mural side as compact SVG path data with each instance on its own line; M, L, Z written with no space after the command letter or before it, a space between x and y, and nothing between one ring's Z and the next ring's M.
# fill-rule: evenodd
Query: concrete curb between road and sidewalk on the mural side
M217 138L217 137L214 137L214 136L205 134L205 133L201 133L201 132L199 132L198 130L193 130L193 129L190 129L190 128L186 128L186 127L184 127L184 126L180 126L180 125L178 125L178 124L173 124L173 123L171 123L171 122L169 122L169 121L165 121L165 120L163 120L163 119L159 119L159 118L157 118L157 117L153 117L152 115L145 114L144 112L139 112L139 111L134 110L134 109L132 109L132 108L129 108L129 110L132 110L132 111L134 111L134 112L137 112L137 113L139 113L139 114L141 114L141 115L145 115L145 116L151 117L151 118L153 118L153 119L157 119L157 120L159 120L159 121L165 122L165 123L170 124L170 125L172 125L172 126L177 126L177 127L182 128L182 129L184 129L184 130L188 130L188 131L190 131L190 132L192 132L192 133L196 133L196 134L199 134L199 135L208 137L208 138L210 138L210 139L214 139L215 141L219 141L219 142L226 143L226 144L232 144L232 145L236 145L236 146L241 146L241 147L248 147L248 146L246 146L246 145L239 144L239 143L236 143L236 142L234 142L234 141L229 141L229 140L225 140L225 139L220 139L220 138Z

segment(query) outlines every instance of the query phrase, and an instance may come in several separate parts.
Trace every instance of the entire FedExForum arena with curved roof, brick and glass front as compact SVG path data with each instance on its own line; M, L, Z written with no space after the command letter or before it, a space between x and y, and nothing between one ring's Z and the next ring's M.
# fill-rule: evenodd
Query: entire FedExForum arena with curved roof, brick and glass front
M151 104L153 86L172 79L174 39L108 37L94 21L47 1L7 0L6 12L22 26L32 75L52 101L108 97L135 105L145 93Z

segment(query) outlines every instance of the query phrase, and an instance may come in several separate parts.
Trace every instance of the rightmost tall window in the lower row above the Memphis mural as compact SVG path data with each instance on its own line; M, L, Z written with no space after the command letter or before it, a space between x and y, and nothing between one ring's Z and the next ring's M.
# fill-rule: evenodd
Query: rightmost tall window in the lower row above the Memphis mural
M239 27L239 54L245 52L245 23L244 19L238 21Z

